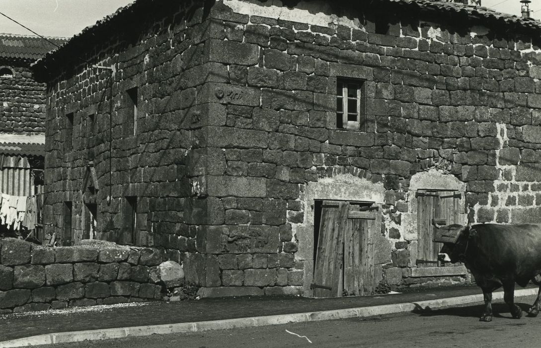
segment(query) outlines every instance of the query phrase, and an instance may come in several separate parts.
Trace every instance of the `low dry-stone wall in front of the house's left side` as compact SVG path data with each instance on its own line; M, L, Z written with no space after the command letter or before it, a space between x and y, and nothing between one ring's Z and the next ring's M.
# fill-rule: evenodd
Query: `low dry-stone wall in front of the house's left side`
M0 313L161 298L160 250L86 242L51 248L0 239Z

